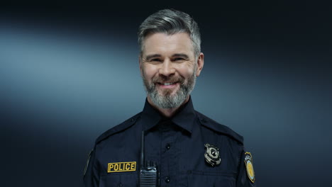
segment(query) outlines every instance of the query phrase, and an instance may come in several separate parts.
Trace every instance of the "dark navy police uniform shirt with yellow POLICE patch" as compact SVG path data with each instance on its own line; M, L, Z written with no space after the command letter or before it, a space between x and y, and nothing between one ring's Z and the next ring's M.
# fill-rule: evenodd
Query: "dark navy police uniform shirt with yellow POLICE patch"
M255 186L246 169L243 137L194 111L191 98L168 119L145 101L141 113L104 132L89 156L85 186L138 186L142 130L145 160L157 163L162 187ZM206 143L218 148L220 164L206 162Z

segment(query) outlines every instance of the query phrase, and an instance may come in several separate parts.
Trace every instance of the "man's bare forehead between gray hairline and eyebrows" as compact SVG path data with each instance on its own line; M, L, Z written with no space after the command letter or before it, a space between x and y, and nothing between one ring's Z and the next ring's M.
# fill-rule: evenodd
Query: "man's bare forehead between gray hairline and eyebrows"
M188 56L194 55L192 40L187 33L154 33L148 35L143 42L143 56L146 55L173 55L184 53Z

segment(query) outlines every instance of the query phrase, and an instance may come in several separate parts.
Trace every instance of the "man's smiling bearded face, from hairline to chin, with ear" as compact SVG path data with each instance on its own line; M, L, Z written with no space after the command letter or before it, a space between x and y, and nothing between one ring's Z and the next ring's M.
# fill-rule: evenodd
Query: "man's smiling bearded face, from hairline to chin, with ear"
M194 56L187 33L148 35L140 57L148 101L158 108L179 107L189 98L203 64L203 53Z

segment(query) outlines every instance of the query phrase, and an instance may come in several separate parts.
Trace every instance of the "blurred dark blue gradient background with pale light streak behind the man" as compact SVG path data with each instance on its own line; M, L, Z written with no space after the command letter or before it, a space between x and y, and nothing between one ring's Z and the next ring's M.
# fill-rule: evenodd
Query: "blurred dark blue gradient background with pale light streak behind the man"
M330 186L331 6L313 2L1 6L0 186L82 184L96 137L143 109L136 32L160 8L199 23L194 107L245 137L259 186Z

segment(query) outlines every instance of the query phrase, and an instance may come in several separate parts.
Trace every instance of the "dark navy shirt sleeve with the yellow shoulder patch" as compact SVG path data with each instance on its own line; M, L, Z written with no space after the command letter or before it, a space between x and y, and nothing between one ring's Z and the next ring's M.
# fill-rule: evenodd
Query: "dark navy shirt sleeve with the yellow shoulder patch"
M253 164L251 160L251 164ZM238 180L236 182L236 187L255 187L256 186L256 181L255 181L255 172L253 170L253 167L251 167L252 173L248 174L247 172L247 166L245 164L245 152L243 151L241 153L240 157L240 164L239 164L239 169L238 169ZM250 176L253 176L253 178L250 180Z

